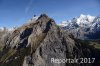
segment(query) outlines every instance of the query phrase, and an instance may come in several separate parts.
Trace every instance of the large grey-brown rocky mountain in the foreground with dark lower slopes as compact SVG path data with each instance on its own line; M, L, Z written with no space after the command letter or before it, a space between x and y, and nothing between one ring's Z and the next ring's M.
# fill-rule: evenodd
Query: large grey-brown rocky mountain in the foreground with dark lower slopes
M95 66L100 62L99 48L94 49L90 42L75 39L46 14L0 40L0 66ZM71 60L61 63L61 59L75 58L95 58L95 61L81 63L80 59L76 63Z

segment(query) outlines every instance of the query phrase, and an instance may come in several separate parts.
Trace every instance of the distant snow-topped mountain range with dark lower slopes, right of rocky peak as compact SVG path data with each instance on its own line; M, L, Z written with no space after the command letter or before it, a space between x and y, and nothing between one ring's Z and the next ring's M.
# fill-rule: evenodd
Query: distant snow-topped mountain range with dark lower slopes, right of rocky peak
M72 20L62 21L59 26L79 39L100 39L100 16L81 14Z

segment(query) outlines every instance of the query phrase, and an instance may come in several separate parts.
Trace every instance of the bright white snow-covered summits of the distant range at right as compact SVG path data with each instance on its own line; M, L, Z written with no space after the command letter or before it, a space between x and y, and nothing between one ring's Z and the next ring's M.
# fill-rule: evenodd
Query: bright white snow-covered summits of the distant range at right
M75 17L72 20L62 21L62 23L59 25L63 27L63 26L73 25L74 23L76 23L80 27L84 27L86 25L91 26L94 19L95 16L81 14L79 17Z

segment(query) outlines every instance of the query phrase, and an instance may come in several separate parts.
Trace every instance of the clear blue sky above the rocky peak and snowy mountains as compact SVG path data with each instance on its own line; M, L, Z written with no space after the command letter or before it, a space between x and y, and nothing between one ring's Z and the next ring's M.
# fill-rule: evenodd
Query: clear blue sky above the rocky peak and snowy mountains
M18 27L41 13L56 23L80 14L100 15L100 0L0 0L0 27Z

